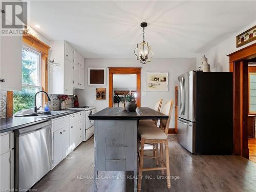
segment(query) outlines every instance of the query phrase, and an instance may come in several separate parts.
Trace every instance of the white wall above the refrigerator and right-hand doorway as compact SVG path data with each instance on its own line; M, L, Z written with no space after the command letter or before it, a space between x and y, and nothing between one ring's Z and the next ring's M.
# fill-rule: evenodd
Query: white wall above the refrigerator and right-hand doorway
M255 25L256 25L256 22L245 27L241 31L233 33L227 40L223 41L221 44L201 54L201 55L205 55L208 58L208 63L210 64L211 71L218 71L218 72L229 71L229 57L227 57L226 55L233 53L235 51L238 51L240 49L243 49L255 43L255 41L252 41L244 46L237 48L236 36L250 29ZM200 59L201 59L201 56L197 57L197 66L200 65Z

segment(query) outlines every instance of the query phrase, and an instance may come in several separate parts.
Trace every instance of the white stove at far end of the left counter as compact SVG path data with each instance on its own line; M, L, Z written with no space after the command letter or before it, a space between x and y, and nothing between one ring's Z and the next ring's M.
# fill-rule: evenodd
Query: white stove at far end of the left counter
M94 120L88 118L95 113L94 106L77 106L69 108L70 110L83 110L83 135L82 140L87 141L94 134Z

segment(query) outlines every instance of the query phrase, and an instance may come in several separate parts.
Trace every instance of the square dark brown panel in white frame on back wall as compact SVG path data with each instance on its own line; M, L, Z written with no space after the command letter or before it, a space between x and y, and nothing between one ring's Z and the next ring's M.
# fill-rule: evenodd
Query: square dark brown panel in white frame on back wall
M88 86L105 86L106 68L88 68Z

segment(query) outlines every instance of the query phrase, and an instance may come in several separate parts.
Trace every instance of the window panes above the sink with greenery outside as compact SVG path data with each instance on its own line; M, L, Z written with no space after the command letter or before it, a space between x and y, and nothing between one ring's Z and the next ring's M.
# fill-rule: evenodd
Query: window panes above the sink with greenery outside
M27 46L23 46L28 48ZM13 114L18 114L34 106L34 95L41 91L41 54L29 48L22 52L22 91L13 92ZM28 51L27 51L28 50ZM41 94L37 95L37 106L42 103Z

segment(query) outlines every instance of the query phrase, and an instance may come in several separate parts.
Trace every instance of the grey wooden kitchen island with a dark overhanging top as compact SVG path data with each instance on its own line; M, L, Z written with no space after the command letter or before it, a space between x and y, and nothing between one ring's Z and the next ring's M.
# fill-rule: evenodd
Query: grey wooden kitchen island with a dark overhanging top
M105 108L89 116L94 120L94 191L97 191L98 171L134 172L137 191L137 127L141 119L168 119L151 108L136 112L122 108Z

